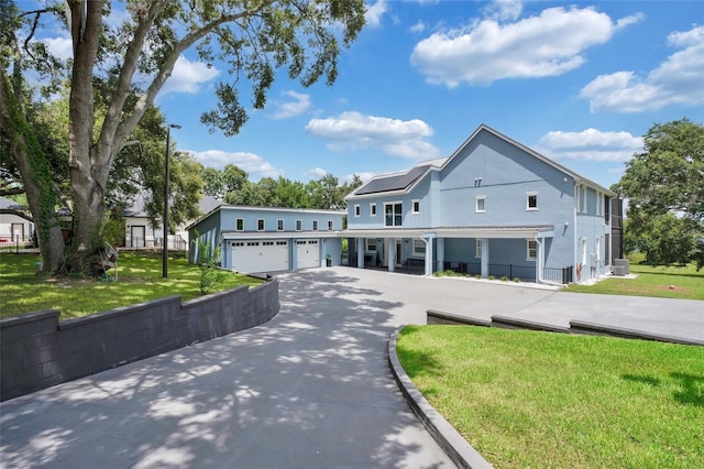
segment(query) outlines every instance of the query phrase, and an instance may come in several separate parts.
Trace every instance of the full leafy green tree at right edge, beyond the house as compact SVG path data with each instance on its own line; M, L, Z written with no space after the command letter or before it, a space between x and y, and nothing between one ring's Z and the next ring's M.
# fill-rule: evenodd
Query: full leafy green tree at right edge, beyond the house
M704 266L704 126L654 124L614 189L628 199L627 251L651 264Z

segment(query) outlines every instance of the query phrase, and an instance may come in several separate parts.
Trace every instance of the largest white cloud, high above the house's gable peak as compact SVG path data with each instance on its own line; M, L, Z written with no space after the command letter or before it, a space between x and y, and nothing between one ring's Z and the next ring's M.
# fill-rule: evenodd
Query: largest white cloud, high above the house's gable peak
M505 4L508 7L510 4ZM509 9L503 11L509 17ZM612 22L593 8L549 8L503 24L495 19L438 32L416 44L410 62L432 84L488 85L503 78L557 76L580 67L584 51L640 15Z

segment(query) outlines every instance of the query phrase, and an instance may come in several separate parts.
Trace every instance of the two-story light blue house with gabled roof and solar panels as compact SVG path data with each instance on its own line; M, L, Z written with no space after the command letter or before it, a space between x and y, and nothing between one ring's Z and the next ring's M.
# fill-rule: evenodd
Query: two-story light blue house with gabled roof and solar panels
M343 236L359 268L585 281L610 272L615 196L480 126L450 157L350 194Z

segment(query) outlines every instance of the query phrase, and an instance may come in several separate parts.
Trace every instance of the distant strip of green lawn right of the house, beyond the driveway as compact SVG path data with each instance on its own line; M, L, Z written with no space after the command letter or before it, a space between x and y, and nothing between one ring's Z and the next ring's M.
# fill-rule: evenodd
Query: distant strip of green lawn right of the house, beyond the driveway
M563 292L607 295L659 296L663 298L704 299L704 269L630 264L637 279L609 277L594 285L572 284Z

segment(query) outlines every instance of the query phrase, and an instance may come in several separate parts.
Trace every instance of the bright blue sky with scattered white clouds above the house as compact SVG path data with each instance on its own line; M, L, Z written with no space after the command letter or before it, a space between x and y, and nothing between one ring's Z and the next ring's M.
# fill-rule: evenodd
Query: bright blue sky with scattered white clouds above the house
M704 122L704 2L369 0L332 87L280 74L239 135L209 133L227 70L185 54L157 103L179 150L253 181L407 170L486 123L605 187L653 123Z

